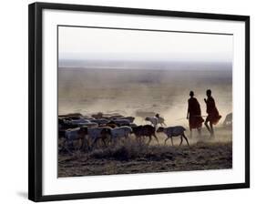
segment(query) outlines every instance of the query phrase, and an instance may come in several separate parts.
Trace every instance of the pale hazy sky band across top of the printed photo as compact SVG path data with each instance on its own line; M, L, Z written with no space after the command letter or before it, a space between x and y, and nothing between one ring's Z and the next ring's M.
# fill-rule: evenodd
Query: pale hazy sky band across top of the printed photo
M59 59L231 62L227 35L58 27Z

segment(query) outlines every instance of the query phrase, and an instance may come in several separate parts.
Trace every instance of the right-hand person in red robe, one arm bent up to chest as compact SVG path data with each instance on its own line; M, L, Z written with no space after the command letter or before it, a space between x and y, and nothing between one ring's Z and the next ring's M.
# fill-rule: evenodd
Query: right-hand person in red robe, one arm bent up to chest
M207 96L207 99L204 98L204 101L206 103L206 112L207 112L208 116L206 117L204 125L210 132L210 136L214 137L214 131L213 131L212 126L216 125L219 122L221 116L220 116L219 111L215 105L215 101L214 101L213 97L211 97L210 89L208 89L206 91L206 96ZM210 127L209 127L208 123L210 123Z

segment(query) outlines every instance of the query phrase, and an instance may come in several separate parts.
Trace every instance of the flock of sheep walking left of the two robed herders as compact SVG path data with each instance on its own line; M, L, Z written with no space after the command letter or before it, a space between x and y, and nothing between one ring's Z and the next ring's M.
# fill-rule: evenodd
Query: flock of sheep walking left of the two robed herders
M163 132L168 139L172 137L180 137L180 143L182 144L183 138L186 140L188 146L189 141L185 136L185 128L181 126L167 127L163 117L145 117L146 121L149 121L150 125L137 125L134 123L135 117L124 117L119 114L102 114L97 113L90 117L82 116L81 114L68 114L58 117L58 138L62 139L61 149L65 148L70 151L70 147L73 147L74 141L80 140L81 149L95 148L100 141L105 147L109 143L116 144L118 140L122 138L129 138L131 134L134 134L138 142L141 142L143 138L148 138L148 144L152 137L157 140L157 133ZM165 126L165 127L158 127ZM144 140L144 139L143 139Z

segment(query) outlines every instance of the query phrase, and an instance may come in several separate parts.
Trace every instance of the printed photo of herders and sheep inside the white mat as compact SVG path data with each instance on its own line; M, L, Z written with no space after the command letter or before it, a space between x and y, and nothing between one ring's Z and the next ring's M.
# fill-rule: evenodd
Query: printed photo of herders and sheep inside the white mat
M57 26L57 177L232 168L233 35Z

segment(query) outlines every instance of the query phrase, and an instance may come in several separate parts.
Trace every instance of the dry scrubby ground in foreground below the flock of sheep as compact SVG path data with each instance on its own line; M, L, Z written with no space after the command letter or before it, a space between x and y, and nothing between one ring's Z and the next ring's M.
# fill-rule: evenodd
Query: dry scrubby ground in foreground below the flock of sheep
M58 177L232 168L232 142L197 141L190 147L138 144L134 139L89 153L59 154Z

